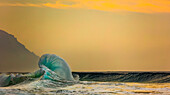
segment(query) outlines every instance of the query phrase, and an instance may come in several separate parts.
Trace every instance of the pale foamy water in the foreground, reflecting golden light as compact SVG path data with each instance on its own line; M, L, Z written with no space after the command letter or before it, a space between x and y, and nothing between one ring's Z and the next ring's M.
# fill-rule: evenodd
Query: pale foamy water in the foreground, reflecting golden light
M65 95L169 95L169 83L120 83L82 81L76 84L52 82L51 80L35 80L11 87L1 87L0 95L5 94L65 94Z

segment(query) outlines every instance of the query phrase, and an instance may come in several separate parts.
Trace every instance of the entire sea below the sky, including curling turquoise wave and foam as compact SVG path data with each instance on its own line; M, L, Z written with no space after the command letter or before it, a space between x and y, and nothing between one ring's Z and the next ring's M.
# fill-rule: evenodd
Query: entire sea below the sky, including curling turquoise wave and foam
M170 95L170 72L72 72L44 54L35 72L0 74L0 95Z

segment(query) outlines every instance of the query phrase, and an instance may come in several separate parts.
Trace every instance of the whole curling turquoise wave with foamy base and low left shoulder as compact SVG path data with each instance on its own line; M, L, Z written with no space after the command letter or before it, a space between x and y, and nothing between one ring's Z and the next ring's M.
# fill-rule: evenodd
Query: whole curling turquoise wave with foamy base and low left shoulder
M28 74L2 74L0 75L0 86L10 86L18 83L34 83L35 86L48 86L53 87L54 85L62 86L64 84L74 84L78 80L73 78L69 65L59 56L54 54L43 55L38 63L40 69ZM78 77L78 76L77 76ZM36 80L36 81L35 81ZM38 81L37 81L38 80ZM52 86L53 85L53 86Z

